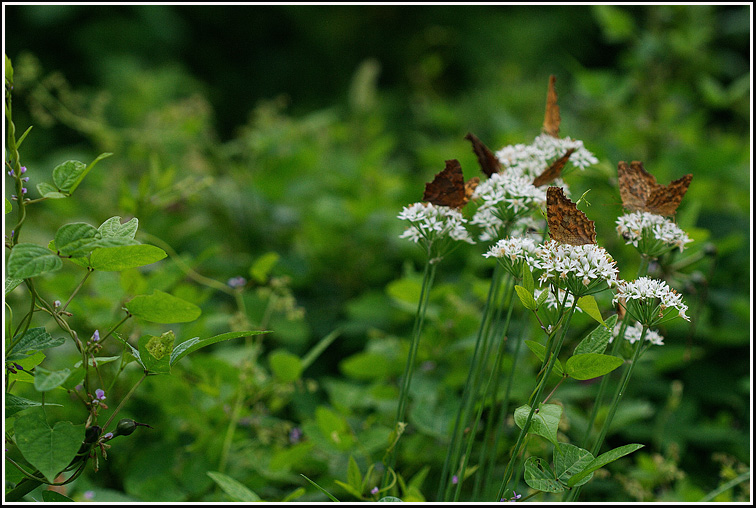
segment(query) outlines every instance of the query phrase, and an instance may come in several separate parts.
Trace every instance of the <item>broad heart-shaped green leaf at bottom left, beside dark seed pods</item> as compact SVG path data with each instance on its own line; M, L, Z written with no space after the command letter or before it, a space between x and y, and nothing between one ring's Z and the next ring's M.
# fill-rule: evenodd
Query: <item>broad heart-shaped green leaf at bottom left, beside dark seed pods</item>
M50 482L73 460L84 441L83 425L58 422L50 427L41 410L19 416L14 429L21 454Z

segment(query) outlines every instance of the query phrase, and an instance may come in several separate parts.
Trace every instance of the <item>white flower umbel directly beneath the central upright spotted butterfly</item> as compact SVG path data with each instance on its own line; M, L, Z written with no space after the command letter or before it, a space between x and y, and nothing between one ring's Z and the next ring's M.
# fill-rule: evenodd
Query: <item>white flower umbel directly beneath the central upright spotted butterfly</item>
M534 268L543 270L541 285L550 283L580 298L613 287L617 283L616 264L598 245L549 240L538 249Z

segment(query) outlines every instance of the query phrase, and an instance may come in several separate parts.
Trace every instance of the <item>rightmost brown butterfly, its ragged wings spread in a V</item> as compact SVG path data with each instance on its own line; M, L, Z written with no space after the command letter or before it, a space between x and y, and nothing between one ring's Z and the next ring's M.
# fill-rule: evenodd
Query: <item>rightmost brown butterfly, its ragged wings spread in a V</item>
M643 168L643 163L632 161L617 165L622 206L631 211L651 212L657 215L674 215L688 190L693 175L687 174L669 185L656 183L656 177Z

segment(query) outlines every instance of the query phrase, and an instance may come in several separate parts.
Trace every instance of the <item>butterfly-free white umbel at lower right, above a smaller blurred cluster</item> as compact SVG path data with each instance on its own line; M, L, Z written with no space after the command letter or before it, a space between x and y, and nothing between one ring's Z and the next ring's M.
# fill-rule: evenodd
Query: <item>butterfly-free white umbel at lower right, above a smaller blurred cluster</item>
M614 303L623 300L625 310L633 319L649 328L677 316L690 321L682 295L661 280L640 277L631 282L620 281Z

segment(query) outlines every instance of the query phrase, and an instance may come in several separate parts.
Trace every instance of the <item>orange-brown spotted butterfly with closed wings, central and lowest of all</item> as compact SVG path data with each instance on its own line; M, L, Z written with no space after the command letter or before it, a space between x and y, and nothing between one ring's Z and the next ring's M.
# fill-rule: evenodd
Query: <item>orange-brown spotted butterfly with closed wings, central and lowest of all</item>
M593 221L565 197L561 187L549 187L546 191L546 218L553 240L570 245L596 243Z

